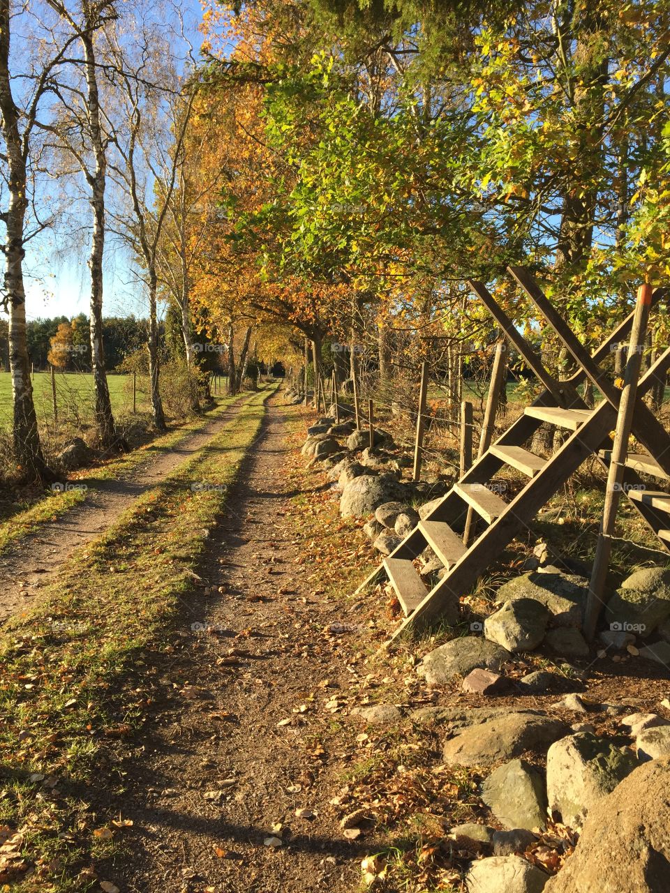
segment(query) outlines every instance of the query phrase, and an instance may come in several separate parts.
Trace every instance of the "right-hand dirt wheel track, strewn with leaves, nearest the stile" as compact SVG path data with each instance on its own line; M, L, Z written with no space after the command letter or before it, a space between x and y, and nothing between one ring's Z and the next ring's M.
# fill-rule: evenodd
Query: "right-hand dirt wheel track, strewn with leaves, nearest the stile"
M273 396L198 568L224 592L189 599L177 647L152 668L145 731L118 765L123 793L94 795L98 815L133 821L125 852L98 866L124 893L358 887L366 844L344 839L329 805L342 781L319 746L330 720L314 703L314 691L321 701L350 688L339 649L352 638L324 637L345 609L298 563L285 412ZM281 846L268 845L273 826Z

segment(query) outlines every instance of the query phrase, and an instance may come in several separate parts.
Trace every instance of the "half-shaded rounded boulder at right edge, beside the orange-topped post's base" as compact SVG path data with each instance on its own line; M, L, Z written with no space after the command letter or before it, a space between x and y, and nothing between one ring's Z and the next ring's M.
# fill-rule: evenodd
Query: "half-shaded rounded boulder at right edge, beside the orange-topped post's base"
M649 636L670 616L670 571L645 567L632 572L607 602L605 619L611 630Z

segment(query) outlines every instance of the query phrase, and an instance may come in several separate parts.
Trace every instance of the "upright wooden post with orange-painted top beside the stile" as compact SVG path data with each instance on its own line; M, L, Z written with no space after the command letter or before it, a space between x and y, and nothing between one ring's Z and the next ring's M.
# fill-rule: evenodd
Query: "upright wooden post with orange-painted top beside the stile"
M612 551L612 535L615 530L616 509L619 505L619 495L624 480L624 468L628 453L628 438L631 435L632 417L635 412L635 400L637 397L638 379L640 377L642 363L642 348L644 346L645 331L649 320L651 306L651 286L642 285L638 289L638 300L635 305L635 316L632 321L631 345L628 350L628 359L624 371L624 388L619 401L619 412L616 418L615 440L612 447L612 455L607 472L607 488L605 490L605 505L603 506L602 522L596 546L596 555L593 559L589 583L589 595L586 599L586 611L584 613L584 635L591 640L596 633L600 607L603 604L602 593L605 588L607 565ZM644 632L644 630L642 630Z

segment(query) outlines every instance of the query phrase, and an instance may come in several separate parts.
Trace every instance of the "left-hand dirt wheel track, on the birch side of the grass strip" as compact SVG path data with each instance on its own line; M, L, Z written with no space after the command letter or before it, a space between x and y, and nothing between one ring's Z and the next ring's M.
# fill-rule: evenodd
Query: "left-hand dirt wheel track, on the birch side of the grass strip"
M228 406L215 419L187 435L167 453L121 474L101 480L88 491L86 501L42 525L19 540L0 558L0 625L22 608L32 605L39 589L54 579L71 553L99 536L147 489L185 463L229 425L247 397Z

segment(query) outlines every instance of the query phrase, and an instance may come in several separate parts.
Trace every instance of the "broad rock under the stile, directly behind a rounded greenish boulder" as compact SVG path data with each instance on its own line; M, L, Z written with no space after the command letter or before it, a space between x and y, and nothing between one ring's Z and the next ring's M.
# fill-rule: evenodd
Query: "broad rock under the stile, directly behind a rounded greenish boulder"
M556 572L524 573L498 589L496 602L514 602L532 598L551 614L550 626L582 625L582 611L589 584L583 577Z

